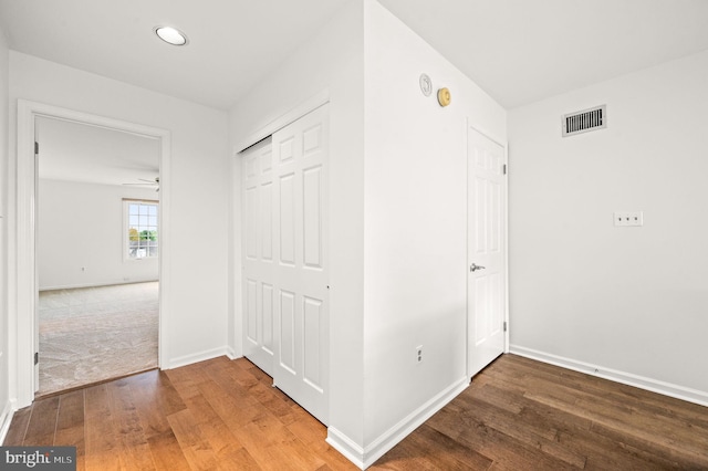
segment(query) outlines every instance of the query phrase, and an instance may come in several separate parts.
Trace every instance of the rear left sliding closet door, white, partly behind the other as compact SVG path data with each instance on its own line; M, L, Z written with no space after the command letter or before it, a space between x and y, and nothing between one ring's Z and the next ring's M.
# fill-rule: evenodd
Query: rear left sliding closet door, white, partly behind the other
M243 151L243 355L273 376L273 163L271 138Z

